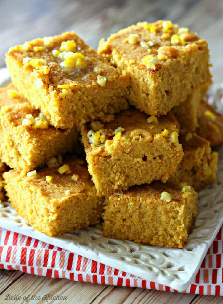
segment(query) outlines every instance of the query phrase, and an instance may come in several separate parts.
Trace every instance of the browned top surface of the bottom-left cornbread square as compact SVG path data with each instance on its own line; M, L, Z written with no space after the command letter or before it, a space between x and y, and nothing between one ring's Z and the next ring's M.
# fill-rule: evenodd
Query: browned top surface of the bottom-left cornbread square
M29 188L38 188L41 195L47 197L48 200L61 200L66 197L76 196L79 193L86 193L89 191L94 191L96 193L93 181L91 181L90 174L87 171L85 161L73 157L65 159L64 164L69 166L69 171L63 174L58 172L58 168L44 167L37 171L36 176L21 177L19 172L10 170L5 173L7 174L5 178L7 176L16 178L16 183L22 182L24 187L27 185ZM73 174L78 175L76 181L72 179ZM46 176L52 177L52 180L47 182Z

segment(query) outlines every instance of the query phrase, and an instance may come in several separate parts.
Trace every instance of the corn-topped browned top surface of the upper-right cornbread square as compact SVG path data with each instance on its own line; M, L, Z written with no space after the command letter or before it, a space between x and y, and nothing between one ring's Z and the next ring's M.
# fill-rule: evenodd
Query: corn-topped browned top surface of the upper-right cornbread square
M131 36L132 34L136 36ZM129 26L111 35L107 42L102 39L98 52L111 54L115 50L122 58L127 60L131 58L128 64L137 65L140 69L152 73L153 70L169 65L173 59L207 47L206 41L201 40L197 34L191 33L188 28L179 28L171 21L159 20L154 23L139 22L137 25ZM157 63L146 60L146 64L143 64L142 58L147 55L155 57Z

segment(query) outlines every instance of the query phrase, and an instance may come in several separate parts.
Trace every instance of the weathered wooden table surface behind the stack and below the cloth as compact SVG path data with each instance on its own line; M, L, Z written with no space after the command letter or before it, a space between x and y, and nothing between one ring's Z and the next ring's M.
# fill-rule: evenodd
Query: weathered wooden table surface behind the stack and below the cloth
M8 0L0 1L0 67L9 47L36 37L74 30L91 47L98 40L138 21L172 20L205 38L210 47L213 81L223 81L222 0ZM223 303L221 297L180 294L141 288L97 285L50 279L19 271L0 270L0 303L7 294L62 295L61 303ZM33 301L42 303L43 301ZM59 303L49 301L48 303Z

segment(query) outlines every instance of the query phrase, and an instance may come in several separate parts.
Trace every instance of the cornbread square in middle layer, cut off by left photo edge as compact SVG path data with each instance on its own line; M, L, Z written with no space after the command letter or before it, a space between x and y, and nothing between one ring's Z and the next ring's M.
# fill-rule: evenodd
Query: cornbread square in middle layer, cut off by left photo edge
M73 150L78 138L76 128L56 129L45 120L40 121L45 129L29 125L40 112L12 84L0 89L0 104L0 158L9 167L32 171L51 157Z

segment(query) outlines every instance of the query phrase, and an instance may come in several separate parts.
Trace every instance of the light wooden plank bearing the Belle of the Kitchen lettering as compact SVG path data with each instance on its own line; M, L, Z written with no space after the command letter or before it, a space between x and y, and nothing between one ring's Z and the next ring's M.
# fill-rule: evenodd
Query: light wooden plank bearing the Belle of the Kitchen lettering
M20 295L21 297L30 295L30 298L32 295L36 295L40 299L35 300L35 303L46 303L46 300L43 299L45 295L59 295L63 296L66 303L86 304L95 299L105 288L106 285L25 274L0 295L0 303L3 303L5 297L10 294L11 296ZM53 299L48 301L48 303L53 302ZM63 303L63 301L61 302ZM15 303L15 300L8 300L7 303ZM16 303L22 304L24 300L17 300ZM60 303L59 300L56 303Z

